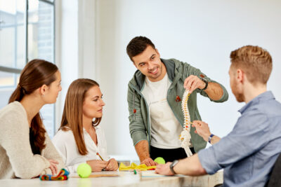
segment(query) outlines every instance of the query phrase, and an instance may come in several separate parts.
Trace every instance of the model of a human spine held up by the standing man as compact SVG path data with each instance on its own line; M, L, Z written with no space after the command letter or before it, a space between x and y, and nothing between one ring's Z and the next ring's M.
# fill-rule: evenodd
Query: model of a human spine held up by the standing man
M184 123L183 123L183 131L181 132L180 135L180 142L181 142L181 147L185 149L186 155L188 157L192 156L192 152L190 151L190 114L188 111L188 99L190 97L190 92L189 90L185 90L183 93L183 100L181 101L181 109L183 110L183 116L184 116Z

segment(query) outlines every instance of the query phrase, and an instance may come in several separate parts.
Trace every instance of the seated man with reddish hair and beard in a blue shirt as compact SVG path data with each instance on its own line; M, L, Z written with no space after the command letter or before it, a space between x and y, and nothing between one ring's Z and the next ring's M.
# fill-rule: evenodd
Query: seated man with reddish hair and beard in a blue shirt
M281 152L281 104L266 83L272 71L270 54L258 46L244 46L230 54L230 87L237 102L245 102L241 116L226 137L209 133L195 121L198 134L213 144L183 160L158 165L159 174L214 174L223 170L223 186L265 186Z

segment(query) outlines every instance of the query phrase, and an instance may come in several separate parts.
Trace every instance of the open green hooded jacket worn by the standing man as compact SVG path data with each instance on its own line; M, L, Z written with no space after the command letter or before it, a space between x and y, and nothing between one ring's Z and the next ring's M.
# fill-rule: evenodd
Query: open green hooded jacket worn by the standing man
M188 63L183 63L175 59L164 60L161 59L165 64L166 71L169 77L169 81L171 81L171 85L167 94L167 101L171 110L174 112L174 115L178 119L178 122L183 126L183 111L181 109L181 102L176 102L176 97L183 97L183 92L185 88L183 88L183 83L185 78L190 75L195 75L200 77L202 72L200 69L196 69L195 67L190 66ZM204 75L204 74L202 74ZM205 75L204 75L205 76ZM205 76L205 78L209 82L212 81L210 78ZM128 85L128 105L129 105L129 121L130 121L130 134L133 139L133 145L135 146L138 141L148 140L150 144L151 140L151 124L150 124L150 113L148 109L148 104L145 101L145 98L141 94L141 90L143 90L145 85L145 76L141 74L141 71L136 71L133 78L129 82ZM221 99L216 101L211 100L213 102L225 102L228 100L228 92L226 88L221 85L223 88L223 96ZM197 93L200 93L204 97L208 97L206 92L200 89L196 89L190 95L188 99L188 109L190 112L190 120L201 120L200 113L197 109ZM195 134L195 127L190 128L191 142L195 148L195 151L198 152L200 149L205 148L207 142L202 139L198 134ZM179 134L175 134L175 136L179 136Z

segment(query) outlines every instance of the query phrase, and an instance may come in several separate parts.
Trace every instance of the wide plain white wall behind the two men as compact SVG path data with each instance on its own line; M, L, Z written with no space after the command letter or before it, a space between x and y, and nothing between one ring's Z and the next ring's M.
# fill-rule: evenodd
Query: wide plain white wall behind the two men
M259 45L273 56L268 89L281 100L281 1L96 1L96 81L105 98L101 125L108 152L136 155L129 135L127 83L136 68L126 55L134 36L148 36L163 58L174 57L200 68L222 83L228 102L216 104L198 97L202 119L212 132L225 136L232 130L238 104L228 78L229 55L244 45Z

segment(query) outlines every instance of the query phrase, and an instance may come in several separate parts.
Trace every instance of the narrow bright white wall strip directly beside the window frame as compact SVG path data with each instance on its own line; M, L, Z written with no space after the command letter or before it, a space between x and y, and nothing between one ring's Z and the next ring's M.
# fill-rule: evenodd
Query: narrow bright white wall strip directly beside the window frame
M73 80L78 78L77 13L77 0L55 1L55 64L60 69L63 88L55 103L57 129L60 127L67 88Z

